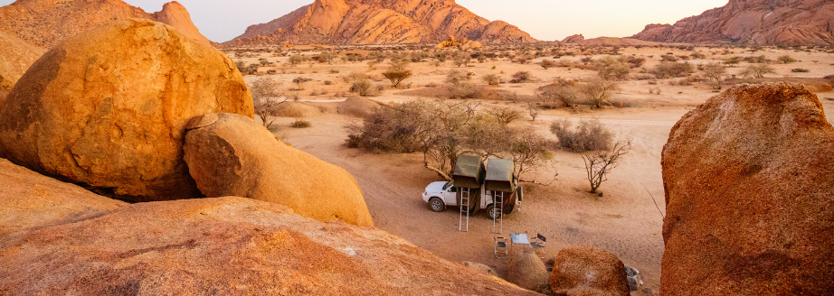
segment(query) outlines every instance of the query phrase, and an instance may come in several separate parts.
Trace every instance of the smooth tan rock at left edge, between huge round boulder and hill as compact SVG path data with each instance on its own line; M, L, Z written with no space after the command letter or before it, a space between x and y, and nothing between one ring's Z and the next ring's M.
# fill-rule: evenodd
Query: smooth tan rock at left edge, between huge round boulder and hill
M41 57L43 49L34 47L17 37L0 32L0 109L3 108L5 95L8 95L14 84L26 69Z

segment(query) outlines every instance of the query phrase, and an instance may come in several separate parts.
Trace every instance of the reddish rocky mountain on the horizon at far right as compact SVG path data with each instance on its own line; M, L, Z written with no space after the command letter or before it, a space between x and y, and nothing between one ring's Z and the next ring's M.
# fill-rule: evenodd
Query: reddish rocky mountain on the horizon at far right
M834 44L834 2L829 0L730 0L674 25L649 24L631 38L649 42Z

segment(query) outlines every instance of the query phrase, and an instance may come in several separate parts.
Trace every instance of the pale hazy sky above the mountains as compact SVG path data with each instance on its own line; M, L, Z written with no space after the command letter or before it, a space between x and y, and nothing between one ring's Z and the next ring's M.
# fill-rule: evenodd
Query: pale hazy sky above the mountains
M123 0L148 13L170 0ZM313 0L178 0L197 28L213 42L226 42L246 27L267 23ZM0 0L8 5L13 0ZM534 38L562 40L572 34L586 38L627 37L649 23L675 23L681 18L723 6L727 0L458 0L458 4L490 21L517 25Z

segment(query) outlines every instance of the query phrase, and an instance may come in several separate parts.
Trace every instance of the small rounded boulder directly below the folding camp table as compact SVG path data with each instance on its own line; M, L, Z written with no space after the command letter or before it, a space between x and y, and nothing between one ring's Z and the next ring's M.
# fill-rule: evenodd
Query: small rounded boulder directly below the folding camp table
M547 282L547 268L532 251L519 252L510 257L507 282L531 291L542 291Z

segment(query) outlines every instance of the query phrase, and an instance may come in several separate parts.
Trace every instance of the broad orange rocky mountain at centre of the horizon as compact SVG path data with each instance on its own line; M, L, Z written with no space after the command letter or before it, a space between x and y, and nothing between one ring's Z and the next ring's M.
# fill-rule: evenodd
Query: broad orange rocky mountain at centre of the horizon
M270 23L251 25L227 46L536 42L509 23L489 22L454 0L316 0Z

